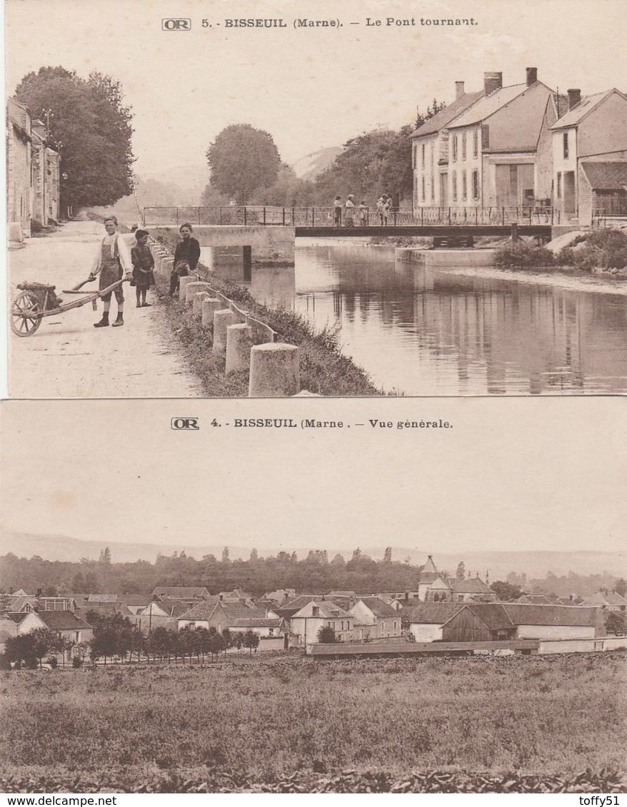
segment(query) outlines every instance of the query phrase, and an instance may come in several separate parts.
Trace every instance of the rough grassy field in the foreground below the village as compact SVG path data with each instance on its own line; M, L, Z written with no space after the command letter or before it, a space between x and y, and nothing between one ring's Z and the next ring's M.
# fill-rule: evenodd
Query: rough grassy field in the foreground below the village
M625 663L279 656L3 672L0 789L623 792Z

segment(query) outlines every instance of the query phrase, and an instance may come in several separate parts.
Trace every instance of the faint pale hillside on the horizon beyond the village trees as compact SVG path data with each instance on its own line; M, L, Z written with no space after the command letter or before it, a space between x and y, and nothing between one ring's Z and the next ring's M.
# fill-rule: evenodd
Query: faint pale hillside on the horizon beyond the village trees
M0 534L0 554L9 552L18 557L32 558L39 555L44 560L78 562L81 558L97 560L101 550L106 546L105 541L79 541L64 535L33 535L29 533L18 533L5 531ZM134 562L139 559L154 562L158 554L172 555L175 551L185 550L187 557L200 560L206 554L213 554L216 558L221 557L225 544L229 546L229 553L232 559L247 559L250 554L250 546L234 545L225 540L218 545L191 546L171 544L140 544L120 542L108 542L111 549L113 562ZM318 546L316 549L327 549L329 557L336 553L342 554L348 561L352 557L352 550L355 547ZM281 550L296 551L299 558L305 558L309 552L309 547L301 548L290 546L287 543L264 547L257 546L260 557L276 555ZM361 546L363 554L368 554L375 560L381 560L385 546ZM410 562L421 564L427 560L427 554L433 555L436 567L440 570L448 571L454 575L457 564L464 561L467 575L475 574L485 578L486 571L490 575L490 580L504 579L510 572L525 574L528 578L544 578L550 571L558 577L568 575L572 571L575 575L600 575L608 572L616 577L627 578L627 554L621 552L490 552L478 550L461 550L455 553L440 553L430 550L428 547L403 548L392 545L393 561L404 561L410 558Z

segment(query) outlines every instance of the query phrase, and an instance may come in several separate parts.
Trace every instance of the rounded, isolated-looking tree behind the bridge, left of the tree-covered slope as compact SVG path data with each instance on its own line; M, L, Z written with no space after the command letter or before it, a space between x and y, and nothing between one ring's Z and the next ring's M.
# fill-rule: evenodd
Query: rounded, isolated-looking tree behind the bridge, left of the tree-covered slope
M211 184L246 204L253 190L276 182L281 165L272 136L250 123L232 123L222 129L207 149Z

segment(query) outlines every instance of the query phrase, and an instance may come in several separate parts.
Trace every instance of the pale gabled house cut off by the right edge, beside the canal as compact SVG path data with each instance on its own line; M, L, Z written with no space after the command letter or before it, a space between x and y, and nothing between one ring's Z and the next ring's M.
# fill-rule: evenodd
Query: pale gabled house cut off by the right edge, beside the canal
M568 111L550 131L562 224L590 225L595 211L627 215L627 96L616 88L585 98L568 90Z

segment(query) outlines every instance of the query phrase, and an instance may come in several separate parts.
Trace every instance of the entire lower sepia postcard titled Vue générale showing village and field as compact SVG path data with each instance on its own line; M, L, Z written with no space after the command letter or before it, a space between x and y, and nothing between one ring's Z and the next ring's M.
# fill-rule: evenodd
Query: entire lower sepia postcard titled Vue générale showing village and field
M0 791L625 792L619 402L293 403L4 403Z

